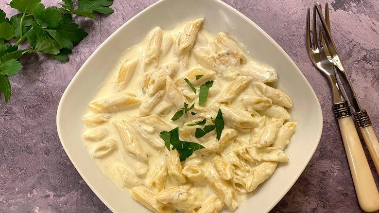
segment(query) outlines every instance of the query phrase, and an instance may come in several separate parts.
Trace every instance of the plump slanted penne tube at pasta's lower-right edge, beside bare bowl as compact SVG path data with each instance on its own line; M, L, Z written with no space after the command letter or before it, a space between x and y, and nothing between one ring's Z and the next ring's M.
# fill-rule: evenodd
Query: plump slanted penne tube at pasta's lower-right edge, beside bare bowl
M265 161L254 167L246 177L246 189L255 190L259 184L269 178L276 169L277 162Z

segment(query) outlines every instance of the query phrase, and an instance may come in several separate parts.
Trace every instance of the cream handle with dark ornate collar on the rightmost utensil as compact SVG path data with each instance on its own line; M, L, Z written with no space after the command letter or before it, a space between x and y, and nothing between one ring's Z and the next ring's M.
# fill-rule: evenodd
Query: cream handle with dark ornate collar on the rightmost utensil
M363 109L362 111L353 114L355 123L357 123L361 130L364 142L366 142L372 161L374 161L375 168L379 174L379 142L375 136L374 129L371 126L367 111Z

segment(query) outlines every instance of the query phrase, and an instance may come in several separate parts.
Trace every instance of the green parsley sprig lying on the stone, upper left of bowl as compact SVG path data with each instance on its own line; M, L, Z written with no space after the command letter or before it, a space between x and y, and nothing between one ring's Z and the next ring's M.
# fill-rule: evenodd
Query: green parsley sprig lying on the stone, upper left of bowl
M40 52L50 54L58 61L69 61L68 54L73 46L88 35L72 22L72 15L95 18L94 12L114 12L109 8L113 0L78 0L76 9L73 0L62 1L62 8L45 8L41 0L12 0L8 5L20 13L10 19L0 9L0 92L6 102L11 96L8 77L22 68L19 57L28 52ZM16 43L12 38L18 38ZM18 49L25 40L30 48Z

